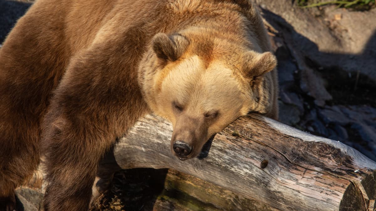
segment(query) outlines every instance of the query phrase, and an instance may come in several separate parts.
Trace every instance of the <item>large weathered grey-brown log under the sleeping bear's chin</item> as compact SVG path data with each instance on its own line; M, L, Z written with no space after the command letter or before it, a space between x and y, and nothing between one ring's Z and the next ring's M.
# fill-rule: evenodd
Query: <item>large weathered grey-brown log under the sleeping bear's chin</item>
M103 166L175 169L279 210L376 209L376 163L340 142L250 115L216 134L199 158L180 161L171 133L169 122L147 115Z

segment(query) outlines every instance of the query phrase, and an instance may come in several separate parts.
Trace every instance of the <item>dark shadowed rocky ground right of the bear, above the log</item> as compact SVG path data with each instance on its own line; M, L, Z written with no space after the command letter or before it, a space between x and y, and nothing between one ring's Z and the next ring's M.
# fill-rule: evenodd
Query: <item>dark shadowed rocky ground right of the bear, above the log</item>
M360 71L323 67L305 53L333 60L366 57L362 66L374 68L376 32L361 54L325 53L280 16L263 13L278 31L273 44L278 58L280 121L346 143L376 161L376 81Z

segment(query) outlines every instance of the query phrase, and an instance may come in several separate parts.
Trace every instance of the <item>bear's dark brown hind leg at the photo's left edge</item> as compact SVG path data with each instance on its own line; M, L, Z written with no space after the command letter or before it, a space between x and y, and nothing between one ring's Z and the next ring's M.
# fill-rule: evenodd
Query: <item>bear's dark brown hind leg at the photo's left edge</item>
M65 66L62 37L42 35L58 17L37 7L18 20L0 48L1 211L14 209L15 188L39 163L39 125ZM41 24L42 17L50 19Z

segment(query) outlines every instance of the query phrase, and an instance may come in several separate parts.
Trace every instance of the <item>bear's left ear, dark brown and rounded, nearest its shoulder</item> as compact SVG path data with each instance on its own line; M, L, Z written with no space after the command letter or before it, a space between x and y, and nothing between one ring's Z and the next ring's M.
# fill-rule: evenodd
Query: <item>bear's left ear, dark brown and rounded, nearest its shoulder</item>
M167 36L165 33L158 33L152 40L152 48L158 58L171 62L179 59L188 45L189 41L178 33L170 36Z

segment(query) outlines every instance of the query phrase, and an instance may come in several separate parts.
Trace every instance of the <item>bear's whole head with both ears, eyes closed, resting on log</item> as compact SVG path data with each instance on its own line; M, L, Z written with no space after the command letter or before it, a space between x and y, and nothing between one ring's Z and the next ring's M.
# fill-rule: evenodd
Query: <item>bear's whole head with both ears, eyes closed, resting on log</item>
M139 66L139 83L153 112L173 124L171 151L186 160L238 117L270 111L275 67L274 55L257 45L158 33Z

